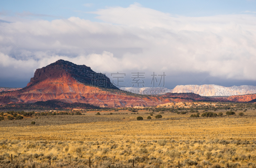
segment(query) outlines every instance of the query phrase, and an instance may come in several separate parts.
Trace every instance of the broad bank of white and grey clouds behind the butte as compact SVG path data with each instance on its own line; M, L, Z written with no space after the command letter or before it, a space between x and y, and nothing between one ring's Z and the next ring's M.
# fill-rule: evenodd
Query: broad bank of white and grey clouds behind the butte
M0 33L0 62L16 47L10 39L18 45L28 36L19 46L22 52L15 49L0 64L0 71L9 69L9 75L18 76L15 75L18 67L32 77L36 68L64 59L90 66L97 72L130 73L143 69L181 74L189 71L219 78L256 80L254 15L191 18L140 4L92 13L103 22L71 17L65 21L0 23L0 29L8 36ZM3 76L1 73L0 78Z

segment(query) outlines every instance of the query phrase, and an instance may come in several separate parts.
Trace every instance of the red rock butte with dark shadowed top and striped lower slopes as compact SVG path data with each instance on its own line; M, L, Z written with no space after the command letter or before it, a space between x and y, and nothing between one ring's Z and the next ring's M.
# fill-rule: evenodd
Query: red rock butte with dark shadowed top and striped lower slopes
M95 80L92 80L92 75ZM100 77L103 79L100 85ZM93 87L92 81L94 82ZM160 100L141 99L123 94L110 93L120 91L111 86L109 78L94 72L85 65L76 65L58 60L46 67L36 69L27 87L12 92L0 93L0 105L13 103L34 103L36 101L58 100L65 103L88 103L101 107L156 106ZM97 94L97 93L101 94Z

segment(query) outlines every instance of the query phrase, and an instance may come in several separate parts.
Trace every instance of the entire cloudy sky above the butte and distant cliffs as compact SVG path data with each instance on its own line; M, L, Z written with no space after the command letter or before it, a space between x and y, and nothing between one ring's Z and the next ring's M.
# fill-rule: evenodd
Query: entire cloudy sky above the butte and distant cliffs
M1 1L0 86L59 59L185 84L256 85L256 1ZM160 76L158 76L158 82ZM112 80L112 79L111 79ZM162 86L161 84L160 86ZM140 85L142 87L142 85Z

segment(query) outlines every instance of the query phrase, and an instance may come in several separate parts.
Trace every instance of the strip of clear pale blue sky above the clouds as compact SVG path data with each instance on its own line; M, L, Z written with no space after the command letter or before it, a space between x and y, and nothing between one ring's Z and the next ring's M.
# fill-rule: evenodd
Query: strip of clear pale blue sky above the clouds
M65 19L75 16L82 19L95 21L95 15L86 12L96 11L113 6L128 7L135 2L143 7L155 9L161 12L167 12L184 16L212 16L220 14L243 13L245 11L256 12L255 0L180 0L180 1L153 1L153 0L115 0L115 1L68 1L68 0L38 0L38 1L1 1L1 12L6 15L29 18L53 20L59 18L59 15ZM55 9L56 8L56 9ZM54 12L52 9L55 9ZM202 9L202 10L201 10ZM200 11L201 10L201 11ZM52 12L53 11L53 12ZM200 11L200 12L199 12ZM29 16L27 12L30 12ZM19 14L18 14L19 13ZM21 15L23 13L23 15ZM27 13L27 16L26 16ZM34 14L34 16L32 15ZM40 16L41 15L41 16ZM96 20L99 21L99 20Z

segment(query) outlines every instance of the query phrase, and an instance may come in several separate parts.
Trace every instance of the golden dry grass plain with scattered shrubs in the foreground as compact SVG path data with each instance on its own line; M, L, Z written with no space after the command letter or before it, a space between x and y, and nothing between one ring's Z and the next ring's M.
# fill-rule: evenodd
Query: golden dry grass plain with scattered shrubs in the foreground
M256 167L255 110L248 109L244 116L236 112L198 118L165 112L161 119L155 119L155 112L146 119L148 112L0 121L0 167L48 167L50 156L52 167L88 167L89 157L92 167L99 168L132 167L133 159L135 167L156 167L156 158L158 167L177 167L178 161L181 167Z

